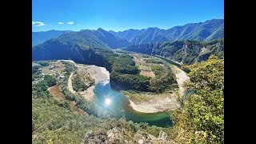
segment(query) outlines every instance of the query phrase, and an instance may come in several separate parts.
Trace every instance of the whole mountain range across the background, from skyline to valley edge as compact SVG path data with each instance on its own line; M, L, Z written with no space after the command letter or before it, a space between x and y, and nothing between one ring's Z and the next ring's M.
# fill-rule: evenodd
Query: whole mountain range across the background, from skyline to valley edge
M90 54L98 53L97 50L105 53L106 50L122 49L160 55L177 62L191 64L206 60L210 54L216 54L219 58L224 54L224 40L219 40L224 38L224 20L222 19L174 26L168 30L154 27L121 32L106 31L101 28L61 31L63 34L54 32L56 34L53 36L58 38L51 38L32 46L32 60L75 58L75 56L86 59L82 54L86 54L90 59ZM218 40L213 41L214 39ZM87 55L87 52L90 54ZM79 61L83 61L81 58Z

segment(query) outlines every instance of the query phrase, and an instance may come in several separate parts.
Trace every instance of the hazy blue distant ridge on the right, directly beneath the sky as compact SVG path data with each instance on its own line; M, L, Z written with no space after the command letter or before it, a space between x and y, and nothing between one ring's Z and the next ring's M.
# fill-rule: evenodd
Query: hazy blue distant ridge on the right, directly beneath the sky
M207 40L224 38L224 20L212 19L206 22L189 23L184 26L174 26L168 30L150 27L142 30L109 31L119 38L124 38L133 44L166 42L170 40Z

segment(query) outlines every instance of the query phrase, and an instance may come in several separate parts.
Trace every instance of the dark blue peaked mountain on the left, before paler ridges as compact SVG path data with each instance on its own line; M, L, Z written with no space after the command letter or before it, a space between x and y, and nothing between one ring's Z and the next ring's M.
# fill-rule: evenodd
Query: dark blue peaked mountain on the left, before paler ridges
M32 47L32 60L66 59L74 54L75 47L89 50L110 50L130 46L130 42L117 38L106 30L80 30L60 35ZM87 50L88 51L88 50Z

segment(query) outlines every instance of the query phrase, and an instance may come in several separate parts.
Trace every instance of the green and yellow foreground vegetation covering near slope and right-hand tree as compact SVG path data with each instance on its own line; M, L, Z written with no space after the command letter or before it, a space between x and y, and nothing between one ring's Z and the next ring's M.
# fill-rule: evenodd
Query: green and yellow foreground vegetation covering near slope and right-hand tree
M224 63L216 56L210 56L206 62L198 62L186 67L190 69L190 82L186 83L189 93L181 99L182 108L171 112L173 128L75 113L71 109L70 102L75 102L75 106L86 113L90 112L90 103L65 89L65 83L75 67L69 62L62 63L66 68L65 77L60 84L64 86L62 90L65 99L57 101L47 90L56 84L54 76L46 75L33 84L32 143L86 143L89 139L90 142L109 142L108 134L114 129L120 134L120 137L115 139L116 142L124 140L134 142L142 132L139 138L153 138L164 131L167 137L164 142L224 143ZM34 66L38 64L34 63ZM40 70L34 71L34 74L40 73ZM98 134L98 136L94 138L90 135L90 130L93 131L93 135ZM146 133L153 136L146 136ZM88 134L90 136L85 137ZM150 138L146 141L151 142Z

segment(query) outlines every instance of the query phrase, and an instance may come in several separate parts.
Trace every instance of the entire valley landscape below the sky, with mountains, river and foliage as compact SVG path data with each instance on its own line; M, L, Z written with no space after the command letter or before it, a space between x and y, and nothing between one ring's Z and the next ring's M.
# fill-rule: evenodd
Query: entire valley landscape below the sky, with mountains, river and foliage
M190 26L201 33L212 22L218 26L203 38L192 29L172 38L175 27L169 34L99 28L33 46L33 142L112 142L113 134L118 143L222 139L224 39L212 34L222 38L223 23Z

